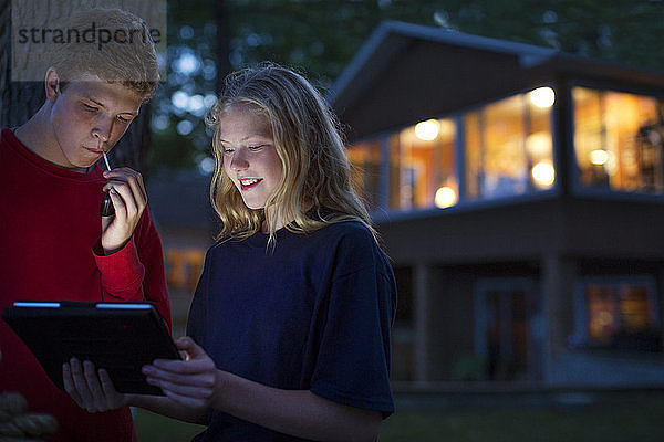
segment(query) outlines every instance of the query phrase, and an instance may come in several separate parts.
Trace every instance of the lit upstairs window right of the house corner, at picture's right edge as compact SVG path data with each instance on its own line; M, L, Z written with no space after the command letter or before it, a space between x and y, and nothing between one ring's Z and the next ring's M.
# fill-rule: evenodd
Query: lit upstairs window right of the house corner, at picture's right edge
M585 87L574 87L572 99L580 185L664 193L663 103Z

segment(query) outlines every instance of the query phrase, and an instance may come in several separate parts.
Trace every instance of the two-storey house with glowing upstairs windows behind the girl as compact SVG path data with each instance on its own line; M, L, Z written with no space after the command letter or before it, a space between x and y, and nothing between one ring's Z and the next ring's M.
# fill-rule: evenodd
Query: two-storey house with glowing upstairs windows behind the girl
M329 99L396 386L664 386L664 73L385 22Z

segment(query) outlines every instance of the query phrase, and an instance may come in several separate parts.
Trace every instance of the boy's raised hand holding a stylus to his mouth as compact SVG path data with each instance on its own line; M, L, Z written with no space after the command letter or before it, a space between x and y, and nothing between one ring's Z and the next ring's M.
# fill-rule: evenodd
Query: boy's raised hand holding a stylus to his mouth
M115 217L102 217L102 248L110 255L122 249L132 234L143 210L147 206L147 192L143 177L128 167L104 171L108 179L104 190L108 191Z

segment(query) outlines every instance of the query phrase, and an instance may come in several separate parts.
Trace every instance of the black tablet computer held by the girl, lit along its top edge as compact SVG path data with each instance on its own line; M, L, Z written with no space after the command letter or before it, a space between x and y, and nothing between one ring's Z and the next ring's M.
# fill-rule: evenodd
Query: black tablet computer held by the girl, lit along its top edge
M2 319L61 389L62 365L75 357L106 369L122 393L164 394L141 369L155 359L181 359L149 303L17 302Z

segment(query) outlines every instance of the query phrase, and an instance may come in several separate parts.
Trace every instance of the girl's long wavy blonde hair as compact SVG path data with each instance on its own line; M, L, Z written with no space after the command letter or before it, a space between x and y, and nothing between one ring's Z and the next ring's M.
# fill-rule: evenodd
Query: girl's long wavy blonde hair
M281 181L266 207L249 209L224 171L219 120L234 106L249 106L264 115L272 127L280 158ZM330 223L356 220L371 232L366 208L351 185L350 165L336 118L320 93L300 74L263 64L227 76L225 88L206 119L215 130L215 173L210 199L221 219L218 239L249 238L267 222L269 243L274 242L278 220L292 221L291 232L308 233Z

